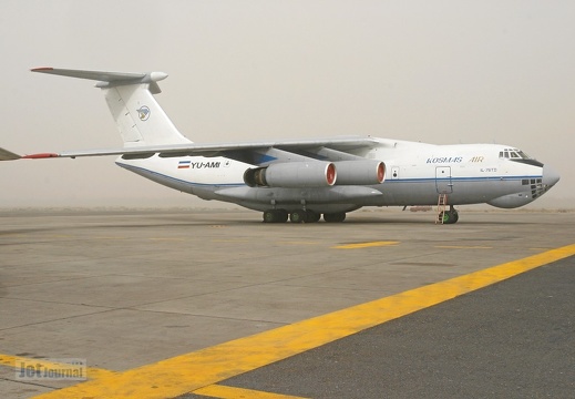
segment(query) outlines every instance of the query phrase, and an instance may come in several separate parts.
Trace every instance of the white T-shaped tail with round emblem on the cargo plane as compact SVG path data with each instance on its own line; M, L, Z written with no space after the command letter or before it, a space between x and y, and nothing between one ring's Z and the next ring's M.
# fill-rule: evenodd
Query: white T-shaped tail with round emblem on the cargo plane
M191 143L154 99L153 94L162 92L157 82L167 78L164 72L126 73L55 68L37 68L32 72L97 81L95 86L104 91L107 106L126 147Z

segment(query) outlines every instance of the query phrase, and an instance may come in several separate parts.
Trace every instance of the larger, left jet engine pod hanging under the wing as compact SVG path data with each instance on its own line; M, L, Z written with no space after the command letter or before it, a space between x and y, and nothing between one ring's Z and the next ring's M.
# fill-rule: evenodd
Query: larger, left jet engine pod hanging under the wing
M286 162L248 168L244 182L250 187L329 187L336 183L331 162Z

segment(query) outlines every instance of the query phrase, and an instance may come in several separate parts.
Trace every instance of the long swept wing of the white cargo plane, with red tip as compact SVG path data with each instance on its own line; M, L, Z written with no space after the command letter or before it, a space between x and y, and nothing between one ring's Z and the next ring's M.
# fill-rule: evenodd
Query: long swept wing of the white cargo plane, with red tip
M189 144L173 144L173 145L154 145L154 146L134 146L109 150L84 150L84 151L65 151L61 153L38 153L29 155L18 155L7 150L0 149L0 161L11 161L19 158L49 158L49 157L71 157L78 156L104 156L104 155L125 155L130 158L145 158L154 154L161 157L176 157L176 156L226 156L240 161L250 162L253 164L264 164L270 161L270 157L265 157L265 154L274 149L279 150L275 152L273 160L281 161L281 152L314 155L318 154L319 149L328 149L337 153L355 154L357 152L368 151L377 141L371 137L336 137L331 140L285 140L285 141L269 141L269 142L229 142L229 143L189 143ZM264 157L258 157L263 155ZM356 155L351 155L356 156ZM330 155L325 153L319 156L329 160ZM255 160L263 162L255 162ZM265 158L265 160L264 160ZM285 161L288 161L286 157Z

